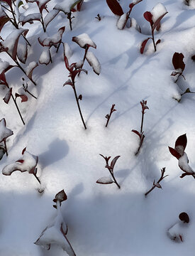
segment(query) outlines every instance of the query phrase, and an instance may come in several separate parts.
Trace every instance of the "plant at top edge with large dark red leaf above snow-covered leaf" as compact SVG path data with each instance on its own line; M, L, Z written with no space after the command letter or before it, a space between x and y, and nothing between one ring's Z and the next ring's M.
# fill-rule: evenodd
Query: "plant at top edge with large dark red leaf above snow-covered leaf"
M116 14L116 15L120 16L118 18L118 21L117 21L117 24L116 24L118 29L122 30L122 29L124 29L126 27L126 23L128 22L128 19L130 18L130 13L131 13L133 7L136 4L139 4L140 1L143 1L143 0L135 0L135 1L133 1L133 3L129 4L129 11L127 13L124 13L121 5L118 3L117 0L106 0L106 3L108 4L108 7L111 9L113 14ZM136 28L138 25L137 25L137 23L135 21L135 18L133 19L133 21L134 22L130 23L130 24L131 24L131 26L133 26L133 24L135 23L135 28ZM138 30L140 31L140 28L138 28Z

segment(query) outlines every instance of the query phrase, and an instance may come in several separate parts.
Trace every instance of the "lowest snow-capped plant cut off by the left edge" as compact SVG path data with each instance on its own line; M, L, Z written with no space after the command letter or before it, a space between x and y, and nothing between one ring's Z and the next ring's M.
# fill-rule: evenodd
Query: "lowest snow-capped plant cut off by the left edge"
M4 142L4 146L1 145L0 147L1 147L1 151L2 151L2 148L4 149L4 151L6 152L6 156L8 156L8 151L7 151L7 146L6 146L6 139L8 137L10 137L11 135L13 135L13 132L11 131L11 129L8 129L6 127L6 119L2 118L0 120L0 143ZM3 151L3 153L4 153L4 151ZM3 157L3 155L1 154L1 158Z

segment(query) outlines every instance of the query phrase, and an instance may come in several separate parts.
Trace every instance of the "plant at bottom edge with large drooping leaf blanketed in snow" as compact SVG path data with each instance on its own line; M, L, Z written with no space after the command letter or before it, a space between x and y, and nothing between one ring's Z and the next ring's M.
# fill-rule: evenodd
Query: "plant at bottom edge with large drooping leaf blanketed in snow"
M67 200L67 195L64 190L60 191L55 195L53 201L56 203L54 208L57 209L57 215L52 223L48 225L43 232L40 234L35 245L40 245L46 250L50 250L51 245L59 245L62 250L67 252L69 256L76 256L72 246L67 240L67 225L62 217L61 204Z

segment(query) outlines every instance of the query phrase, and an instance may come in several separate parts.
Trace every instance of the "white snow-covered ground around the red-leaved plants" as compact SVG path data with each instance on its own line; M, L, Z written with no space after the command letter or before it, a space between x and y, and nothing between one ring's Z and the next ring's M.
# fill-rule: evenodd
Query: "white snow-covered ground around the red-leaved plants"
M68 0L64 0L68 1ZM120 0L127 12L130 1ZM40 185L28 172L14 171L11 176L0 176L0 256L62 256L62 247L51 245L44 250L34 242L45 227L55 219L57 210L52 207L56 193L65 190L67 201L62 202L61 212L68 227L67 239L77 256L171 256L194 255L195 235L195 181L192 176L179 178L182 170L168 149L182 134L188 139L186 154L191 169L195 169L195 96L180 95L188 87L195 92L195 4L186 6L182 0L162 0L168 13L162 18L160 31L155 40L161 39L154 52L152 40L140 54L141 43L151 35L150 23L145 11L152 11L158 2L143 0L133 7L130 17L135 18L142 33L135 28L119 30L118 16L108 8L106 0L84 0L81 11L74 12L72 31L65 14L60 12L48 25L50 38L65 26L62 42L72 49L69 64L77 63L84 56L84 49L72 41L73 36L87 33L96 44L89 50L101 64L96 75L89 63L75 78L77 94L82 94L80 107L87 125L84 129L79 117L74 91L68 80L63 47L58 53L51 48L52 63L39 64L33 71L36 86L26 78L28 90L38 100L28 95L28 101L17 100L24 126L12 100L6 105L2 100L6 89L0 91L0 114L6 119L6 127L13 131L7 142L9 156L4 154L1 169L23 159L26 150L38 156ZM24 3L25 4L25 3ZM48 9L60 4L51 0ZM30 6L30 3L28 3ZM32 4L33 5L33 4ZM20 7L22 8L22 7ZM38 8L34 3L35 13ZM46 11L43 11L46 14ZM95 18L99 14L101 21ZM39 21L26 23L28 63L38 62L43 46L38 37L43 36ZM13 31L6 23L2 38ZM170 76L174 67L174 52L184 54L185 69L177 83ZM1 60L9 61L6 53ZM6 65L6 63L4 63ZM25 65L21 64L23 67ZM21 93L24 74L18 68L6 73L9 86ZM175 100L177 99L177 100ZM140 130L140 101L147 100L143 131L145 139L140 152L138 136L132 129ZM106 114L115 104L108 127ZM115 183L101 185L96 181L108 176L105 161L99 155L121 156L114 167ZM166 167L167 176L145 198L153 181L161 176ZM181 230L183 242L171 240L167 230L178 223L179 213L189 215L189 223ZM180 231L178 231L180 232Z

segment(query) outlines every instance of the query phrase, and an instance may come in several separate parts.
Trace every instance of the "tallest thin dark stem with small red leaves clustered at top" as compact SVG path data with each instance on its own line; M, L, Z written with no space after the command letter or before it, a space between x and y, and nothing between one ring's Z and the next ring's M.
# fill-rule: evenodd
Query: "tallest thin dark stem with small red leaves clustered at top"
M80 108L80 105L79 105L79 100L82 100L82 95L79 95L79 97L77 96L77 90L76 90L76 87L75 87L75 78L76 76L81 73L82 71L85 72L87 74L87 70L84 70L82 68L79 68L77 69L77 63L72 63L71 65L69 65L68 63L68 59L67 59L67 56L65 55L65 50L64 50L64 60L65 60L65 66L67 68L67 70L69 71L69 80L67 80L65 82L65 85L71 85L72 86L72 89L74 90L74 97L75 97L75 100L77 102L77 107L79 109L79 114L80 114L80 117L82 119L82 123L84 125L84 129L87 129L87 126L84 122L84 118L82 116L82 111L81 111L81 108Z

